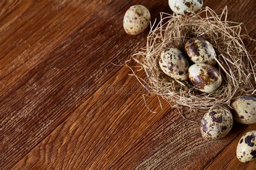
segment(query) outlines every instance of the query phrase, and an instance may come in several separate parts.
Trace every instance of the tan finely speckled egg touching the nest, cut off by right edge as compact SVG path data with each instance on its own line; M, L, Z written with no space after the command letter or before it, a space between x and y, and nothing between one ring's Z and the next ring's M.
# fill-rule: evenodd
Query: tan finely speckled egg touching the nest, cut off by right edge
M235 121L242 124L256 123L256 98L239 97L231 104L231 107L234 109Z

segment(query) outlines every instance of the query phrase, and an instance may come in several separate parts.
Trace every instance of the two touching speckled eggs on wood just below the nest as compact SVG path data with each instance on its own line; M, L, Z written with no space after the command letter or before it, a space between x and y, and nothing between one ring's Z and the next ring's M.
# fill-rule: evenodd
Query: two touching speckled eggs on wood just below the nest
M232 128L233 119L241 124L256 123L256 98L238 97L231 103L231 107L233 115L228 108L215 108L204 115L201 121L203 138L215 140L225 137Z

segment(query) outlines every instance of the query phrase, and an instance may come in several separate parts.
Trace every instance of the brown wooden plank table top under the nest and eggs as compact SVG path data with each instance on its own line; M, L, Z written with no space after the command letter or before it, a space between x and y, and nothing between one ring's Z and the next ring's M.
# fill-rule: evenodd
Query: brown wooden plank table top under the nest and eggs
M255 168L235 155L256 125L234 124L218 141L201 138L202 114L183 119L145 93L131 70L114 66L145 46L149 30L129 36L125 11L149 8L152 20L171 13L167 1L0 2L0 168ZM228 6L228 20L255 36L255 1ZM255 54L255 42L245 41Z

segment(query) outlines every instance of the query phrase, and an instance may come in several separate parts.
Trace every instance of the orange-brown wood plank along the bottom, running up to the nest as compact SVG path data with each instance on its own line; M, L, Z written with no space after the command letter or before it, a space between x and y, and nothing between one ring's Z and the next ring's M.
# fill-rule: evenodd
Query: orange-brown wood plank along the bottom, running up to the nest
M235 126L225 139L207 142L198 123L185 121L163 101L160 111L156 97L147 103L159 110L152 114L136 88L132 94L107 94L109 87L133 89L136 80L129 73L122 68L14 168L200 168L243 128ZM200 122L202 114L190 118Z

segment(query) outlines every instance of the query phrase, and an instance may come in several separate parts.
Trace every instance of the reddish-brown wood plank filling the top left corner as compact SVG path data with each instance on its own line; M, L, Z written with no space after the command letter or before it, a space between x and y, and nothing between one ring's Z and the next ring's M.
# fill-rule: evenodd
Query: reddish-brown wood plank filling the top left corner
M80 12L98 10L94 3L72 1L3 4L3 9L8 10L1 16L1 94L91 18L90 13L78 17Z

